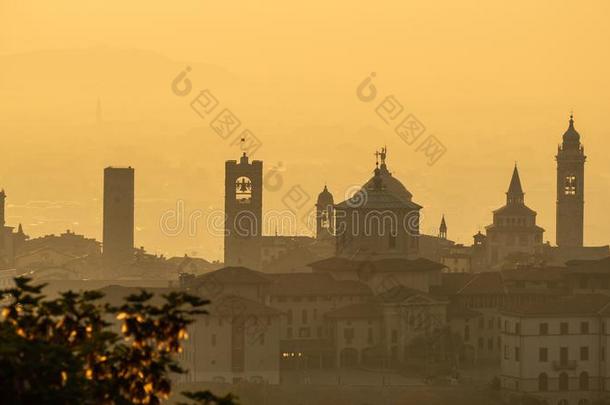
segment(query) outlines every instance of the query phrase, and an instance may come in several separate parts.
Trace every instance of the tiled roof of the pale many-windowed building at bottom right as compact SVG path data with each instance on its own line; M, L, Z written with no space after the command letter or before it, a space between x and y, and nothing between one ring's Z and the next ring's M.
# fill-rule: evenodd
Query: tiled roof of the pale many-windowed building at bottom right
M595 316L608 315L610 297L602 294L576 294L547 302L512 304L502 310L503 314L520 316Z

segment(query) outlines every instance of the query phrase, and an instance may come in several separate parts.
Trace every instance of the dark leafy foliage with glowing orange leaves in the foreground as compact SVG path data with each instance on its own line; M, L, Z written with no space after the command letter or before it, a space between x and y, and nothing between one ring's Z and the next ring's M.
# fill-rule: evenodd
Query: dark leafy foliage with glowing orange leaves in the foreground
M0 402L44 404L159 404L171 392L171 373L186 327L208 301L183 292L141 291L114 307L99 291L68 291L45 299L28 278L0 290ZM120 332L113 331L113 323ZM115 325L116 326L116 325ZM114 328L116 329L116 328ZM232 405L229 394L184 393L195 403Z

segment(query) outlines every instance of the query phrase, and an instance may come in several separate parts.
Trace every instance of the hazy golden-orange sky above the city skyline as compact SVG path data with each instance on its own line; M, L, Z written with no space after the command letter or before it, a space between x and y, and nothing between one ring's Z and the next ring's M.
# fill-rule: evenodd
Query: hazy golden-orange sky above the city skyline
M610 3L607 1L0 0L0 187L7 222L31 236L101 236L102 169L136 168L136 243L220 258L222 239L164 235L176 201L222 208L238 150L170 89L191 66L255 133L285 186L336 200L363 183L375 149L424 206L470 243L504 202L517 161L526 203L555 241L557 143L574 110L586 163L585 242L610 240ZM447 153L430 167L356 97L371 72ZM104 124L96 125L98 97ZM313 201L312 201L313 204ZM304 232L305 230L302 230Z

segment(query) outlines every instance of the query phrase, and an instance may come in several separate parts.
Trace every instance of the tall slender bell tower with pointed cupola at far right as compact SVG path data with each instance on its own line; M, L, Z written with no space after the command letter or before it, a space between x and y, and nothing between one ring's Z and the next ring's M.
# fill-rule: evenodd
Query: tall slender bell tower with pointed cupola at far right
M574 117L557 148L557 234L560 247L583 245L585 149L574 128Z

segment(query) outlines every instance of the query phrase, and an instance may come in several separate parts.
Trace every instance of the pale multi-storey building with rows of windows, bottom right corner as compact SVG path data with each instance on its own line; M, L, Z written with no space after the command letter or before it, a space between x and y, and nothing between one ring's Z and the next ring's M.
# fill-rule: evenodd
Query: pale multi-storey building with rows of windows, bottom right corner
M591 405L610 398L610 298L577 294L502 311L506 402Z

